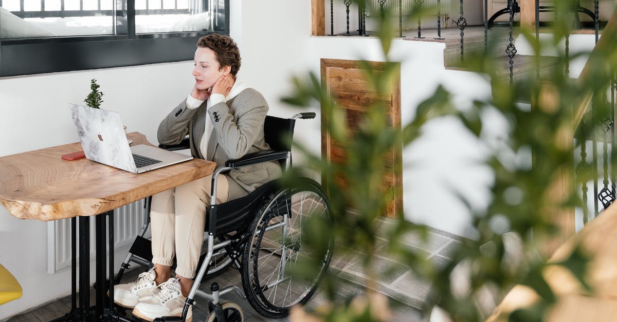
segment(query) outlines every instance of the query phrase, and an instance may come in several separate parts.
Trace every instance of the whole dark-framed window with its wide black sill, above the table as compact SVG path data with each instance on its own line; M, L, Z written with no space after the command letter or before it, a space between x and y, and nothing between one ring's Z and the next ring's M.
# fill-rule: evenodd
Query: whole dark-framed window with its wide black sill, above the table
M0 76L193 59L230 0L0 0Z

